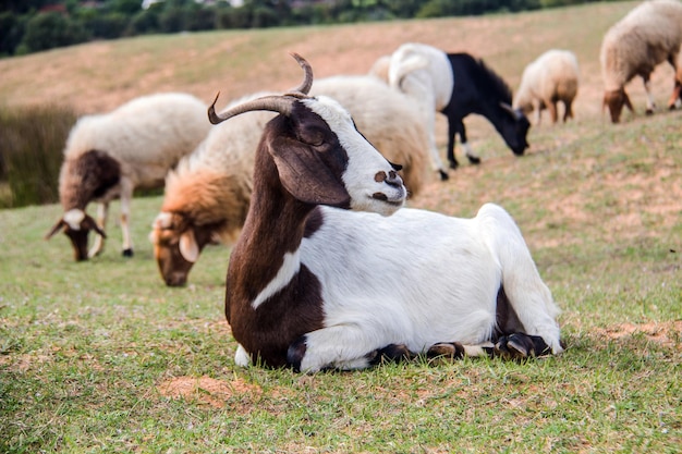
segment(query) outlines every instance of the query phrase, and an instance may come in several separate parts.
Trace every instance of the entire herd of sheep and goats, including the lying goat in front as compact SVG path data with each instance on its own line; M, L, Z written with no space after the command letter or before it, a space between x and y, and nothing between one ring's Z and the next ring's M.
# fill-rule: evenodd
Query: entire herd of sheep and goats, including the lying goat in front
M653 112L649 76L662 61L675 68L669 107L680 106L681 44L677 0L644 2L611 27L600 59L613 122L623 106L633 110L624 87L636 75ZM449 120L450 165L455 133L470 161L479 162L461 124L468 112L455 108L464 96L458 83L467 79L458 73L462 56L406 44L368 75L315 82L295 58L305 79L284 96L253 94L216 113L190 95L158 94L80 119L60 173L64 214L48 237L65 233L76 260L100 254L109 203L120 198L123 254L132 256L133 189L165 184L150 240L167 285L186 283L206 245L234 244L226 314L242 365L260 358L314 371L414 353L560 353L558 310L506 211L488 204L461 220L398 210L407 191L421 189L429 161L447 174L435 146L436 112ZM522 155L526 115L536 111L539 123L547 109L557 122L563 102L567 121L577 90L575 56L552 49L527 65L513 102L502 93L482 114ZM90 201L99 204L97 220L86 213ZM88 250L90 231L97 236ZM400 251L387 242L403 236L410 241L395 240ZM409 257L421 250L438 254ZM452 282L452 268L466 278ZM425 285L405 289L405 275L423 275Z

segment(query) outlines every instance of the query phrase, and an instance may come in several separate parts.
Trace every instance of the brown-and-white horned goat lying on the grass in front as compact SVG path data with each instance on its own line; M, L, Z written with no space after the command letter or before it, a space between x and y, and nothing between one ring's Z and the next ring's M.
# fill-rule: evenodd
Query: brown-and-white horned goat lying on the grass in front
M509 214L490 204L470 220L401 209L395 165L341 105L306 95L312 70L294 57L305 70L296 90L220 115L209 109L216 124L279 113L256 150L252 203L230 255L236 364L315 372L422 352L560 353L558 309Z

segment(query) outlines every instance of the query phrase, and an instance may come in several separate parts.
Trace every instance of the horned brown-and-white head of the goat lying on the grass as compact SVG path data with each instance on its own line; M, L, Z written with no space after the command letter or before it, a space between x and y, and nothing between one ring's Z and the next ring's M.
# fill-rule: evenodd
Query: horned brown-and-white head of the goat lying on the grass
M280 182L291 195L313 205L393 213L407 194L397 173L400 165L388 162L367 142L341 105L325 96L307 95L313 71L302 57L293 57L305 72L299 88L235 106L220 115L214 101L208 111L211 123L253 110L279 112L266 127L261 146L272 157Z

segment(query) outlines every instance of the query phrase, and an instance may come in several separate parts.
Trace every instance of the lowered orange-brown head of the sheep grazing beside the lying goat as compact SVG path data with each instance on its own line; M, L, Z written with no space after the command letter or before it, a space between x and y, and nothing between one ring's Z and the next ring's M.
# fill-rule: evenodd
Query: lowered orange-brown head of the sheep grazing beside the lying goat
M149 241L166 285L185 285L204 247L217 243L215 236L210 225L193 225L181 213L159 213L151 224Z

